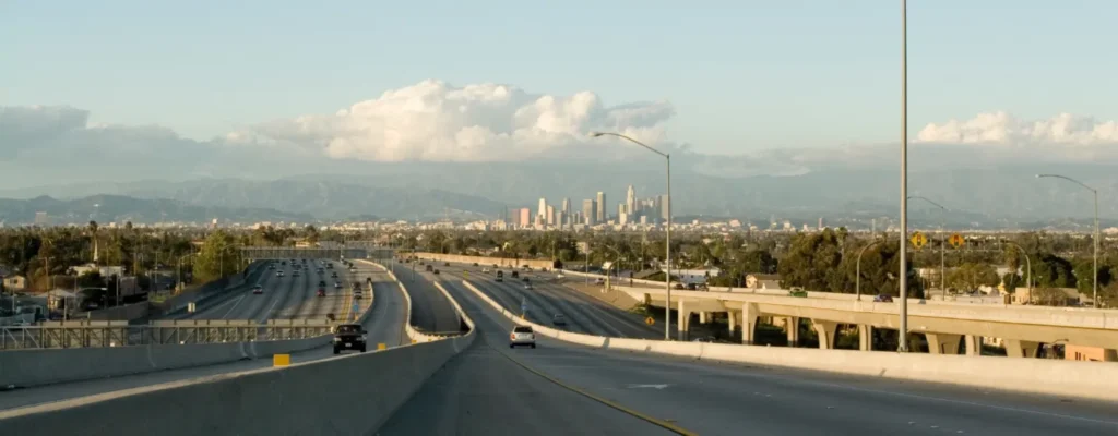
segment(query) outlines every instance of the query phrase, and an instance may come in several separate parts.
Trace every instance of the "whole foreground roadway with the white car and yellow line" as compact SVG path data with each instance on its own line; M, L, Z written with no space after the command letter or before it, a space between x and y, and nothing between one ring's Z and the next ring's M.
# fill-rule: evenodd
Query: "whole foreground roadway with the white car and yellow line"
M480 337L436 372L380 435L664 433L510 357L566 386L703 435L1118 434L1114 404L637 357L549 339L538 339L537 349L510 350L511 321L461 283L444 283L475 320Z

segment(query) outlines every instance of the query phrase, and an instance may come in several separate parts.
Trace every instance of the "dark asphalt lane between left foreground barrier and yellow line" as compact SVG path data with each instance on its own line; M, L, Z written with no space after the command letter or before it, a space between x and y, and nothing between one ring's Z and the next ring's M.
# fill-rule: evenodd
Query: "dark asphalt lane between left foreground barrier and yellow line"
M435 372L377 435L672 434L509 360L501 353L508 333L476 307L470 308L472 301L463 306L477 323L477 339Z

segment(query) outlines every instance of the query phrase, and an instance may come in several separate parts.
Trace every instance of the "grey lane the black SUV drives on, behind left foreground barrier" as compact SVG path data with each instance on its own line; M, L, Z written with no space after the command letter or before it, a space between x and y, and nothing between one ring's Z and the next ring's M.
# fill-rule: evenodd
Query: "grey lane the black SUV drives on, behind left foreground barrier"
M370 351L376 349L377 343L383 342L389 347L408 343L404 332L405 300L399 287L388 279L383 272L372 273L373 280L373 307L372 312L364 322L369 330L368 341ZM316 349L293 352L291 360L305 362L333 357L333 349L330 346ZM104 362L74 362L74 365L103 365ZM243 360L229 364L212 365L197 368L173 369L160 372L140 374L134 376L114 377L97 380L69 382L61 385L41 386L28 389L17 389L0 391L0 409L11 409L17 407L32 406L44 403L59 401L69 398L77 398L95 394L111 393L122 389L130 389L140 386L158 385L162 382L186 380L196 377L214 376L218 374L237 372L250 369L258 369L272 366L268 359Z

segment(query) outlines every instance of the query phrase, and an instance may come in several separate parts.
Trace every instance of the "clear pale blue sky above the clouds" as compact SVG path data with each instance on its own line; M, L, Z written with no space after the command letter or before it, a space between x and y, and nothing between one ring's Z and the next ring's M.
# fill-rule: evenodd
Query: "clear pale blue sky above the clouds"
M0 105L205 139L423 79L669 100L707 153L893 141L900 2L0 1ZM1116 1L909 2L913 129L1118 118Z

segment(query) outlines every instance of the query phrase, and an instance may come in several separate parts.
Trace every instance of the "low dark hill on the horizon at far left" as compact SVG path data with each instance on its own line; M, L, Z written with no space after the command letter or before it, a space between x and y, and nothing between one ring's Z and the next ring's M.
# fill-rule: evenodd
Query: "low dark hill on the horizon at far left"
M38 196L29 200L0 198L0 220L7 224L35 222L37 212L46 212L50 224L85 224L97 222L193 222L206 223L217 217L233 222L258 221L309 222L309 214L281 212L263 207L201 206L174 200L144 200L123 195L93 195L75 200Z

